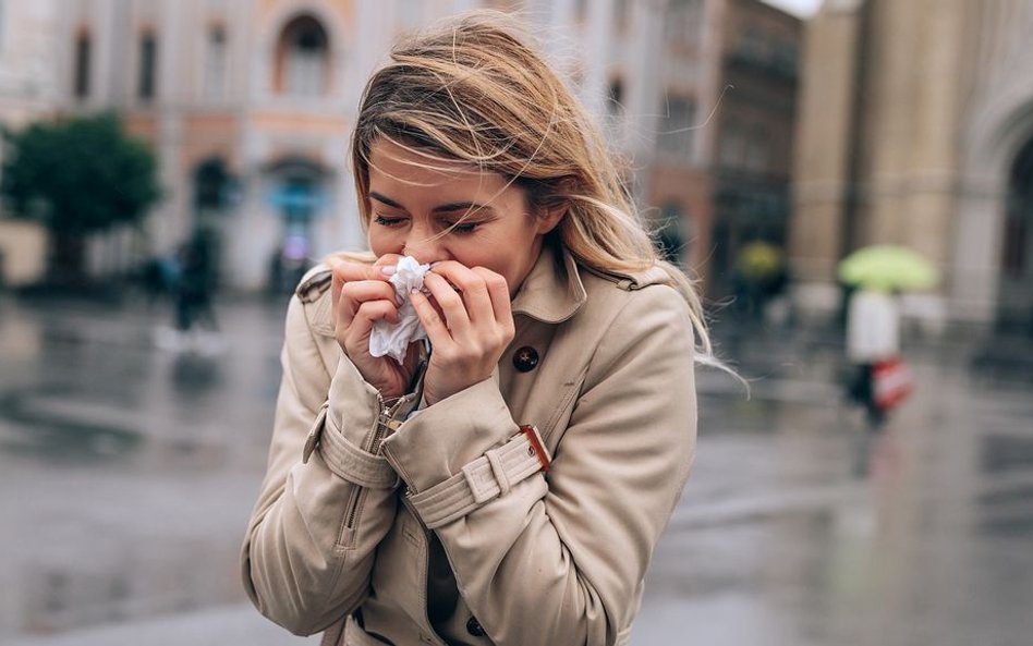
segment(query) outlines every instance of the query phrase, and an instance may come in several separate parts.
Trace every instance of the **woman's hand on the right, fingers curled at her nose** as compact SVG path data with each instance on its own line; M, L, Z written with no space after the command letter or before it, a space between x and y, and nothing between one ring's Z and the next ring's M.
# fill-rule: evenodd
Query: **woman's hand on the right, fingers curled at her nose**
M438 263L412 294L433 352L423 397L434 404L491 376L515 328L506 279L484 267Z

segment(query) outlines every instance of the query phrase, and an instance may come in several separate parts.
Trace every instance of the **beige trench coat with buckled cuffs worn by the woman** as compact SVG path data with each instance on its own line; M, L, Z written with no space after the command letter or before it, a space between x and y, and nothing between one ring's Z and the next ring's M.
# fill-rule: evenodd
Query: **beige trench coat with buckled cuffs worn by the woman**
M242 554L258 610L324 644L625 644L695 447L691 325L665 273L546 248L494 378L414 416L344 358L328 282L311 272L288 312Z

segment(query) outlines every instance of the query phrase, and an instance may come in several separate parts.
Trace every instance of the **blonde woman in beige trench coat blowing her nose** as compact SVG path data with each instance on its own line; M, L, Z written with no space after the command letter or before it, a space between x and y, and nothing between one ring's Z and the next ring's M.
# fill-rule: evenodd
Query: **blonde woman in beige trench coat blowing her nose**
M627 643L693 459L698 298L496 14L393 50L352 163L373 255L291 301L252 600L324 644ZM403 256L430 350L399 363L369 336Z

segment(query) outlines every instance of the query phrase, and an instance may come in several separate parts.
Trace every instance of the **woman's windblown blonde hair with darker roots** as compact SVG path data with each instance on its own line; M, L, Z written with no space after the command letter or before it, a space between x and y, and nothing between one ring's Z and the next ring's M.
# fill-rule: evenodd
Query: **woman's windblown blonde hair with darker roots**
M716 363L695 287L660 259L598 129L528 42L510 16L474 11L392 49L366 85L352 136L363 224L377 141L428 163L459 160L501 174L525 190L532 214L567 207L549 236L579 264L604 273L663 267L689 303L697 361Z

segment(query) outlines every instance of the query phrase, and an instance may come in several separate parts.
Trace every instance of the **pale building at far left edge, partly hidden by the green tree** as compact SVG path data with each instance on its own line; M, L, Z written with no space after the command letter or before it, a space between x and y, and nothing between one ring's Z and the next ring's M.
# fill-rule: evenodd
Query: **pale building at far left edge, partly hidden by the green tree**
M16 130L57 108L57 9L56 0L0 1L0 127L4 130ZM46 269L46 245L40 226L11 220L0 209L0 287L39 280Z

